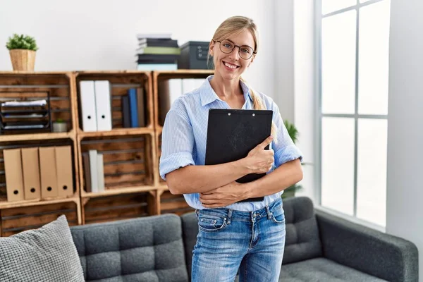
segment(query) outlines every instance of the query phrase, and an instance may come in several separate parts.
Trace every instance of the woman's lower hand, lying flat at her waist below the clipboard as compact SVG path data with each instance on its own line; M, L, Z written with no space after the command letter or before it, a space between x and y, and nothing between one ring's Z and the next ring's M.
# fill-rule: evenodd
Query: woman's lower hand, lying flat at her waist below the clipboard
M244 199L243 184L235 181L209 192L200 193L200 202L205 208L226 207Z

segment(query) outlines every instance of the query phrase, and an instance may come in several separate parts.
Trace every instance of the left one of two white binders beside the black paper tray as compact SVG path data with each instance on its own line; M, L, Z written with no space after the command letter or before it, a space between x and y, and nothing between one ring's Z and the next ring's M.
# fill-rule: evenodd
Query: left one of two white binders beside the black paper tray
M97 115L95 111L95 92L93 80L80 81L80 97L82 130L97 131Z

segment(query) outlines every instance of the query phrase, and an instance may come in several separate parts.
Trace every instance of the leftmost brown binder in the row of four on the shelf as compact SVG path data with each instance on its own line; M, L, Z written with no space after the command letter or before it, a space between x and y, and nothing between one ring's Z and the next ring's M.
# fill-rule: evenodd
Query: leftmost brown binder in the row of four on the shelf
M4 149L3 157L7 200L9 202L22 201L24 200L24 192L20 149Z

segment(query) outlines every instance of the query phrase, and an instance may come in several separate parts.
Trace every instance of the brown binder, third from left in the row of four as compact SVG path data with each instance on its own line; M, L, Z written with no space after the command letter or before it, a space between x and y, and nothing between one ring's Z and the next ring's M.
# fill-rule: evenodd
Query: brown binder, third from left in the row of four
M56 156L54 147L39 147L39 175L41 178L41 197L57 197Z

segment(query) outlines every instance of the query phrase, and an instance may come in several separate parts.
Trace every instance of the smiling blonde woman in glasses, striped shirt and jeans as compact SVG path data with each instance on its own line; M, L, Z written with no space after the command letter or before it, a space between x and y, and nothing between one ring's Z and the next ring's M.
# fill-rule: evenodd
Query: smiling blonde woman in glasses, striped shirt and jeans
M281 193L302 179L302 159L283 125L278 106L247 86L240 75L255 60L257 27L250 18L223 21L210 42L214 75L179 97L166 116L160 175L172 194L196 209L199 233L192 281L278 281L285 245ZM271 109L272 133L247 157L204 165L209 109ZM264 147L271 143L271 148ZM248 173L267 173L250 183ZM239 202L264 197L263 202Z

